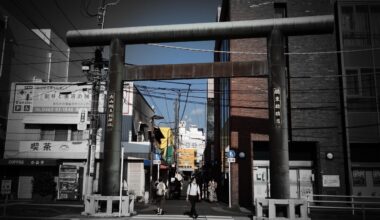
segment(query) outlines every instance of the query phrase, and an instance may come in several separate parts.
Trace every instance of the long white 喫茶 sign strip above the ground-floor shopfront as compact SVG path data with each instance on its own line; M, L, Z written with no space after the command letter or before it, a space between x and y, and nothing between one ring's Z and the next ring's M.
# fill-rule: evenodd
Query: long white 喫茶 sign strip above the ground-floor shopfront
M19 152L87 152L87 141L20 141Z

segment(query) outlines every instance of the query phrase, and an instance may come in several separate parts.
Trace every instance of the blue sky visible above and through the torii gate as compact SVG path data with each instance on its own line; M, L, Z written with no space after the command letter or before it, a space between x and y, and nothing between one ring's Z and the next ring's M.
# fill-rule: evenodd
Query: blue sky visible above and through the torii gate
M101 0L1 0L24 17L24 22L40 28L51 28L65 40L68 30L98 28L95 15ZM105 0L104 28L134 27L164 24L215 22L220 0ZM163 45L196 49L214 49L213 41L177 42ZM72 59L93 56L94 48L71 48ZM108 47L104 48L108 58ZM127 45L125 62L131 65L180 64L213 62L211 52L192 52L154 45ZM70 72L70 81L78 81L78 74ZM77 75L76 75L77 74ZM79 79L85 80L85 79ZM145 99L165 122L174 122L174 100L180 94L180 119L198 127L206 126L206 80L170 82L136 82L146 94ZM186 101L187 100L187 101ZM169 125L173 126L172 123Z

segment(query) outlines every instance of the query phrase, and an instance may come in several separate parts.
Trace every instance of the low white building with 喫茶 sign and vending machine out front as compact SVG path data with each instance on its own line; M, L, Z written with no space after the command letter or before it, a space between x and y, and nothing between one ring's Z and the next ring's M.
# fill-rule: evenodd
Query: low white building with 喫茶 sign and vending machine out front
M12 180L12 195L33 196L40 174L55 178L57 199L81 199L86 194L89 172L91 84L13 83L2 177ZM105 128L105 86L99 95L99 129L95 148L93 192L99 192ZM149 155L147 129L153 110L132 83L124 84L123 132L124 179L130 193L145 192L144 159ZM147 127L147 126L145 126ZM140 142L137 142L137 140ZM139 154L143 152L145 155ZM55 196L55 195L54 195Z

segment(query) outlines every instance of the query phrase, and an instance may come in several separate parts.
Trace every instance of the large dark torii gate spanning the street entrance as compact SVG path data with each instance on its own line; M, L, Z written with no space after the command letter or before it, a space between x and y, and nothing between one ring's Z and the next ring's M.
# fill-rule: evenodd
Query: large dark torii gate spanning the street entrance
M285 80L285 54L283 39L285 36L325 34L334 29L332 15L277 18L252 21L233 21L220 23L198 23L181 25L162 25L145 27L109 28L93 30L72 30L67 32L67 43L71 47L110 45L110 68L106 135L104 143L104 168L102 195L119 194L122 81L170 78L170 72L160 73L159 77L146 76L135 71L129 75L124 68L126 44L155 42L179 42L200 40L222 40L238 38L268 38L269 62L269 120L270 120L270 184L271 198L288 199L289 192L289 153L287 127L287 91ZM206 65L206 64L205 64ZM218 64L211 64L218 65ZM228 65L228 64L219 64ZM230 63L229 65L234 65ZM194 78L238 77L255 75L259 64L251 65L253 71L244 73L218 74L210 71ZM256 68L255 68L256 66ZM176 75L175 78L189 78L189 75Z

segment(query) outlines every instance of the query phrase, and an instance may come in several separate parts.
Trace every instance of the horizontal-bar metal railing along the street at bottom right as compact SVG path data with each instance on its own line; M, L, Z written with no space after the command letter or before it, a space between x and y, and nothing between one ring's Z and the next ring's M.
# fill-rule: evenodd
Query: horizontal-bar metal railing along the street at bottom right
M316 195L307 196L307 212L311 209L355 211L365 216L366 211L380 212L380 196Z

